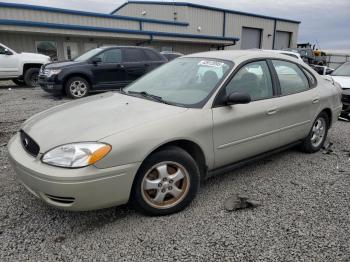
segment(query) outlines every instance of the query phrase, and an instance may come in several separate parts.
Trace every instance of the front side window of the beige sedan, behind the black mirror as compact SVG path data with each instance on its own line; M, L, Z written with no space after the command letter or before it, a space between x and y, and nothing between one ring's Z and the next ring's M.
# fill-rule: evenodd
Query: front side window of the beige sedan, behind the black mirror
M271 74L266 61L244 65L226 86L226 95L249 94L252 101L273 97Z

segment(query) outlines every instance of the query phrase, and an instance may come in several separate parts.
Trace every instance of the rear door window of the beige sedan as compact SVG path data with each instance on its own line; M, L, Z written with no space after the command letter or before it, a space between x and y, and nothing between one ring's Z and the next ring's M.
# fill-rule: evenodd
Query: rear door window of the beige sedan
M310 88L307 77L296 64L279 60L273 60L272 63L277 72L282 95L295 94Z

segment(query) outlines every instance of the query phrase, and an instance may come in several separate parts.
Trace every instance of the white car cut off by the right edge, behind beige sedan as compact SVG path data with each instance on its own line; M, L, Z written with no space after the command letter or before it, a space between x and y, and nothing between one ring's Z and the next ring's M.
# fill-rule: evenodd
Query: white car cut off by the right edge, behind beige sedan
M342 117L350 119L350 62L339 66L333 71L331 77L335 82L339 83L343 89L343 111L341 115Z

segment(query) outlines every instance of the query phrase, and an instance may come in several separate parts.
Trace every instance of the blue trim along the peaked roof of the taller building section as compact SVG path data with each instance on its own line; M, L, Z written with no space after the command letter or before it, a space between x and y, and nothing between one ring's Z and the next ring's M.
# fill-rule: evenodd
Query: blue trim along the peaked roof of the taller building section
M193 3L188 3L188 2L160 2L160 1L135 1L135 0L131 0L131 1L128 1L124 4L122 4L120 7L115 9L112 13L117 12L118 10L122 9L124 6L126 6L128 4L188 6L188 7L201 8L201 9L212 10L212 11L221 11L221 12L226 12L226 13L231 13L231 14L246 15L246 16L253 16L253 17L260 17L260 18L267 18L267 19L275 19L278 21L284 21L284 22L290 22L290 23L296 23L296 24L301 23L300 21L296 21L296 20L290 20L290 19L273 17L273 16L266 16L266 15L259 15L259 14L254 14L254 13L247 13L247 12L235 11L235 10L231 10L231 9L224 9L224 8L218 8L218 7L211 7L211 6L207 6L207 5L193 4Z

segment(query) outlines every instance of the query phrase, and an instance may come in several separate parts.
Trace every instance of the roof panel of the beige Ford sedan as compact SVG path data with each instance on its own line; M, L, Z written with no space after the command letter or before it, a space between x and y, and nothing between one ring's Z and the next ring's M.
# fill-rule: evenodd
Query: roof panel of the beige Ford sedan
M299 61L293 57L289 57L277 52L269 52L261 50L220 50L220 51L209 51L202 53L195 53L191 55L186 55L183 57L203 57L203 58L213 58L221 59L235 62L237 60L248 60L254 58L280 58L284 60L290 60L291 62ZM300 62L300 61L299 61Z

